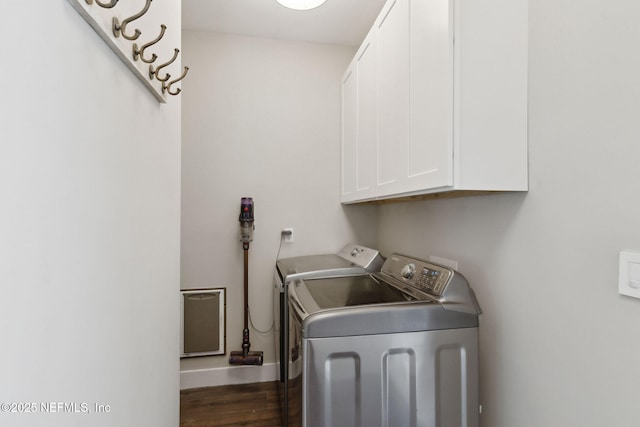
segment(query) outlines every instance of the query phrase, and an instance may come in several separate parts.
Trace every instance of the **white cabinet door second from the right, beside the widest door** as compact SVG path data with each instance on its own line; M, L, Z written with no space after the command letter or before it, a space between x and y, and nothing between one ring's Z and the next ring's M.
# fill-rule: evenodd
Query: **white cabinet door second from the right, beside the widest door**
M378 46L376 195L403 191L409 150L409 0L392 0L375 23Z

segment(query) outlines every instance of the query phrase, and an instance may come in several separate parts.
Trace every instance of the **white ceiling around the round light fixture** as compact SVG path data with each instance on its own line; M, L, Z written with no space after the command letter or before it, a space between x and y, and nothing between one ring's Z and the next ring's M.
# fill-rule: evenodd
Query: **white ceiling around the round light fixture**
M182 28L359 46L386 0L327 0L312 10L276 0L182 0Z

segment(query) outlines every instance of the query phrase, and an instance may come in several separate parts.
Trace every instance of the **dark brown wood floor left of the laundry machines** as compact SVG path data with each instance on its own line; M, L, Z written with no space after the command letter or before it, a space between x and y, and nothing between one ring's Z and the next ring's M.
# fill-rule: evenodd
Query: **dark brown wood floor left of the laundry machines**
M276 382L180 391L180 427L280 427Z

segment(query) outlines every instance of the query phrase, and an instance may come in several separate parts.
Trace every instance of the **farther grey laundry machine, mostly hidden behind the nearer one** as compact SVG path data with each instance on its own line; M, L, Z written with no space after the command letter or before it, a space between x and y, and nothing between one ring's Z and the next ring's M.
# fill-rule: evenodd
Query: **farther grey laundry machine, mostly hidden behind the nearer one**
M274 274L274 319L276 338L276 366L280 380L282 425L288 425L289 314L287 287L293 280L349 277L380 271L384 258L375 249L349 243L336 254L306 255L283 258L276 262Z

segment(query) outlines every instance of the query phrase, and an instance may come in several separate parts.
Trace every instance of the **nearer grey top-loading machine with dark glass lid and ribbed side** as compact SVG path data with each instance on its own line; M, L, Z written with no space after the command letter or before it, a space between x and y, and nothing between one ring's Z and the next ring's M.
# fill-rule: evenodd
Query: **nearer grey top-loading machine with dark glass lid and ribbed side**
M466 279L394 254L380 273L289 286L291 425L478 427L478 317Z

